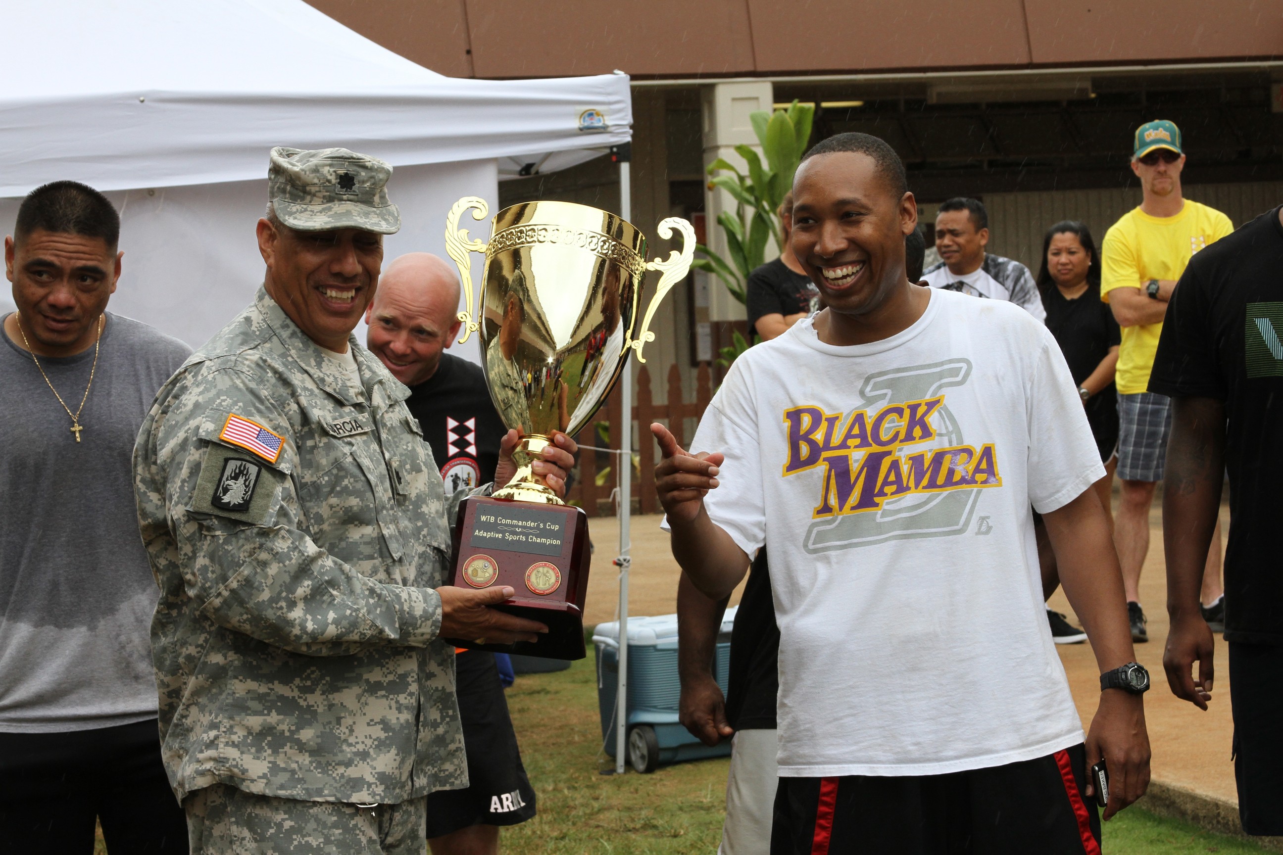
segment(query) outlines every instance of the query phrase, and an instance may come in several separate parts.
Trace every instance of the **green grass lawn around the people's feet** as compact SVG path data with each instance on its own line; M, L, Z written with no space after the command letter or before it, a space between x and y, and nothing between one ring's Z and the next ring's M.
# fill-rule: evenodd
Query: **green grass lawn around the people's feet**
M539 815L503 832L504 855L712 855L721 840L730 760L659 767L653 774L603 776L593 656L570 670L525 674L508 690L508 706ZM1252 843L1209 834L1139 808L1105 826L1107 855L1246 855ZM105 855L99 838L95 855Z

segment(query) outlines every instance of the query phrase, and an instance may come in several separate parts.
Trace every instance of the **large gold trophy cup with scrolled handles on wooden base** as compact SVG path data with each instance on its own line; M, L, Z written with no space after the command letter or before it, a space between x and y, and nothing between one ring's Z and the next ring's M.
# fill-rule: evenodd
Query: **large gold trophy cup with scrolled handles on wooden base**
M681 232L683 247L667 260L645 260L645 237L631 223L588 205L535 201L500 210L489 241L470 240L459 218L488 208L475 196L450 209L445 246L463 279L461 342L481 338L486 386L499 418L522 438L513 451L517 474L490 497L470 497L454 528L450 585L509 586L503 611L548 624L531 643L449 638L475 650L549 659L582 659L588 591L588 515L565 504L531 464L553 431L571 436L606 403L631 351L654 341L650 319L663 296L686 276L694 258L690 223L670 217L659 235ZM485 253L477 311L472 311L471 253ZM643 277L659 283L638 323ZM625 464L629 465L629 464Z

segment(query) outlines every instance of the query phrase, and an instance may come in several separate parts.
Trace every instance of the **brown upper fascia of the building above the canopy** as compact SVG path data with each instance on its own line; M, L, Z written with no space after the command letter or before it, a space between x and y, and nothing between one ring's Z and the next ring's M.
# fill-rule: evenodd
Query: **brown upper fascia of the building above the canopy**
M1279 0L309 0L452 77L639 78L1283 56Z

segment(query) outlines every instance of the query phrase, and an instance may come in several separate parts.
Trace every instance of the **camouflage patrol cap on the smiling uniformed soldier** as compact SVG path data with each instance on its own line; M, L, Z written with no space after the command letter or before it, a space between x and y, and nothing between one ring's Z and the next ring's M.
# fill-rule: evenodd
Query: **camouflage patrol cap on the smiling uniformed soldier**
M387 200L393 168L346 149L272 149L268 197L277 219L300 232L359 228L378 235L400 229L400 212Z

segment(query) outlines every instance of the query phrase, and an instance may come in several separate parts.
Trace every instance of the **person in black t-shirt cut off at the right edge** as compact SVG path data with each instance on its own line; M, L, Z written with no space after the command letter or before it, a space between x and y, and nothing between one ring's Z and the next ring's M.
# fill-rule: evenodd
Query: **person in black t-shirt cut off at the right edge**
M1283 834L1283 208L1197 253L1168 305L1150 391L1171 399L1162 536L1171 628L1162 656L1177 697L1206 710L1211 629L1200 587L1229 472L1225 641L1238 813L1248 834ZM1198 677L1193 677L1193 663Z

